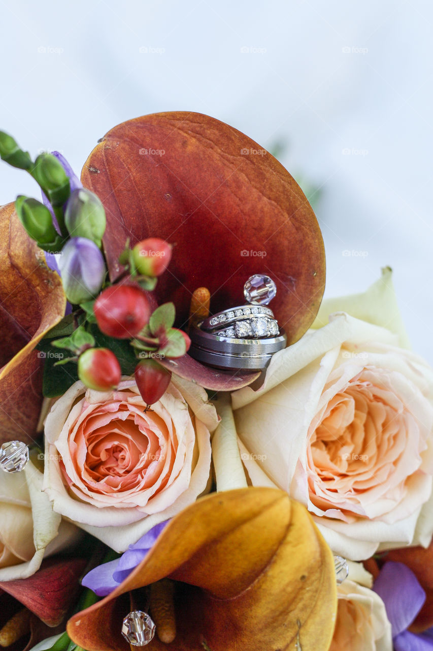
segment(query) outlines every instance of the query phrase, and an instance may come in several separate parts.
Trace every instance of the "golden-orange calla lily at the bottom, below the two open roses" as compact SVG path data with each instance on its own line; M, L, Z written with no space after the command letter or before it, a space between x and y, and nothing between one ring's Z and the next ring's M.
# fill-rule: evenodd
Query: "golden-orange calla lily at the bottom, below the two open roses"
M304 506L272 488L199 499L166 526L146 558L105 599L74 615L88 651L127 651L127 592L176 583L176 639L150 651L328 650L337 607L334 559ZM135 598L135 607L146 605ZM150 605L150 609L151 609Z

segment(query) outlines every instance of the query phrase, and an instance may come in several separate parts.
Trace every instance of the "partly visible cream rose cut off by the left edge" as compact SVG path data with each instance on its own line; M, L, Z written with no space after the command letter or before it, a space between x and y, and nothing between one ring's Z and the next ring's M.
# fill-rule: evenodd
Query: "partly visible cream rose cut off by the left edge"
M44 556L72 545L79 530L61 522L42 492L38 459L20 473L0 471L0 581L25 579Z

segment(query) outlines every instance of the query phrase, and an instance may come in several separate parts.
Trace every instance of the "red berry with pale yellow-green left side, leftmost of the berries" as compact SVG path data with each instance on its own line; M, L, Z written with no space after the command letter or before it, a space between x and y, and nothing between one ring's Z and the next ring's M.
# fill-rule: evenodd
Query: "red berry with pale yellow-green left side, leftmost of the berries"
M122 379L120 364L108 348L88 348L78 359L78 377L89 389L109 391Z

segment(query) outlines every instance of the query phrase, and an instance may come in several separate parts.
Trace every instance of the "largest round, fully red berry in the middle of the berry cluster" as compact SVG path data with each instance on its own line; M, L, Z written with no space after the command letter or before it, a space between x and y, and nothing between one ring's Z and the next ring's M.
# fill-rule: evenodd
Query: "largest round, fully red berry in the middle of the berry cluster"
M150 318L148 299L132 285L107 287L96 299L93 311L99 330L117 339L135 337Z

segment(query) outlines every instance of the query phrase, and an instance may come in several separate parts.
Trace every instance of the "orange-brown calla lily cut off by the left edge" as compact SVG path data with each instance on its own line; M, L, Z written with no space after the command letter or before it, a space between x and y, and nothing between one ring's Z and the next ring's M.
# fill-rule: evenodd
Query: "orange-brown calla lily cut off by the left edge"
M0 207L0 443L33 440L43 362L34 347L66 307L59 275L41 254L14 204Z

